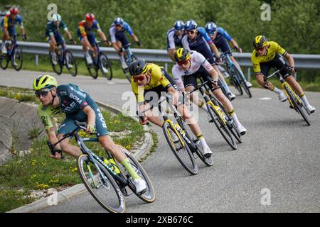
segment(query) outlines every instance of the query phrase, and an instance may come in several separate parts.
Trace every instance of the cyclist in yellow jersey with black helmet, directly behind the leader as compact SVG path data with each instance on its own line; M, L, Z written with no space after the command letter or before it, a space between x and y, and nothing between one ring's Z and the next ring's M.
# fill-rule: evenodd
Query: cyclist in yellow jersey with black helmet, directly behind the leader
M146 124L148 121L162 126L163 120L159 116L154 116L152 111L145 111L150 108L149 102L158 100L161 96L161 92L169 92L172 96L172 104L176 106L181 116L186 120L191 128L191 131L200 141L203 147L203 155L210 157L212 152L203 138L200 126L193 118L193 116L186 109L186 105L181 104L179 101L178 87L169 74L158 65L147 63L144 60L135 60L129 65L129 72L132 75L132 92L136 95L137 103L139 106L139 112L143 113L141 124ZM149 93L149 94L148 94ZM151 96L150 96L151 94ZM151 99L146 100L150 96ZM145 99L146 98L146 99Z

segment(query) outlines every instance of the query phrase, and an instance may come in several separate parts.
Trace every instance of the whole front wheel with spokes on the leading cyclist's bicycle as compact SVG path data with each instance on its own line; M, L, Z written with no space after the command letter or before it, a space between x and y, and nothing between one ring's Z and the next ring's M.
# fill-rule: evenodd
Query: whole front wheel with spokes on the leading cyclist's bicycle
M111 213L123 213L125 204L117 183L105 167L99 162L96 163L103 176L88 155L82 154L78 157L77 167L83 184L104 209ZM105 179L105 182L102 179Z

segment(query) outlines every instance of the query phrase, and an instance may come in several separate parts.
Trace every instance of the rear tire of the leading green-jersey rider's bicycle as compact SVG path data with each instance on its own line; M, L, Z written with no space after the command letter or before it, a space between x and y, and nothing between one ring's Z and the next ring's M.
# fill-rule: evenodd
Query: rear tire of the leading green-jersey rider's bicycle
M146 203L154 202L154 199L156 199L156 195L154 192L154 186L152 185L152 182L149 179L149 176L146 174L146 171L144 170L142 165L140 165L140 163L137 161L137 159L135 157L133 157L132 155L130 155L128 150L126 150L122 146L119 146L119 148L122 149L124 151L124 153L127 155L132 167L137 172L137 175L139 175L139 177L142 177L142 179L144 179L144 181L146 182L146 192L144 192L143 194L137 194L132 183L129 184L129 188L132 190L132 192L134 192L134 194L136 194L140 199L142 199L142 201L145 201ZM127 174L127 177L130 178L129 174Z

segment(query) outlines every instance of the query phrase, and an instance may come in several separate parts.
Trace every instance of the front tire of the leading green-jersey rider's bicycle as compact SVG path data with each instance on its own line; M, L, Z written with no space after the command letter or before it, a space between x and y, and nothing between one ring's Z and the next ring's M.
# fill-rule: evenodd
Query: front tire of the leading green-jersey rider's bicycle
M87 188L87 190L90 192L90 194L92 195L92 197L95 199L95 201L97 201L98 204L100 204L100 206L102 206L104 209L106 209L107 211L111 212L111 213L123 213L125 210L125 204L124 204L124 199L122 197L122 193L120 192L120 189L117 185L116 182L114 182L113 177L110 175L110 173L105 169L105 167L103 167L99 162L97 162L98 167L100 168L100 170L102 171L102 173L105 175L105 177L107 177L108 182L110 183L109 185L107 185L107 187L110 187L110 189L114 190L115 194L117 194L117 201L116 201L116 206L110 206L109 204L106 204L105 201L102 201L102 196L98 196L97 192L94 191L94 189L92 188L91 183L88 181L87 176L85 174L85 170L84 170L84 165L87 163L92 163L92 167L95 167L95 165L93 164L92 160L90 160L89 156L86 154L82 154L78 157L77 159L77 167L78 167L78 173L80 175L80 178L83 182L83 184L85 184L85 187ZM97 174L99 175L99 174ZM97 176L96 175L96 176ZM95 177L96 178L96 177ZM101 183L101 181L100 181ZM105 185L102 184L101 187L104 187L105 189L107 187L105 187ZM110 193L111 193L110 190ZM109 194L104 194L103 195L103 200L105 200L108 197L112 197ZM109 200L110 201L110 200Z

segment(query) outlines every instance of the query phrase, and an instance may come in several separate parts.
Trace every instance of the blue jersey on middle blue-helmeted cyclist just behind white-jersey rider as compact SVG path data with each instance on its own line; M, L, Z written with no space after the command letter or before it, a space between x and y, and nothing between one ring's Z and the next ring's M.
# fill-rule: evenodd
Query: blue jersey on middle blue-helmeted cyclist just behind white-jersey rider
M210 62L211 65L215 65L215 60L213 57L213 53L210 50L210 44L213 43L210 36L206 32L206 29L202 27L197 28L197 35L192 40L188 38L188 35L185 35L181 43L183 45L183 48L187 48L188 50L196 50L197 52L200 52L204 57L206 57L206 60Z

